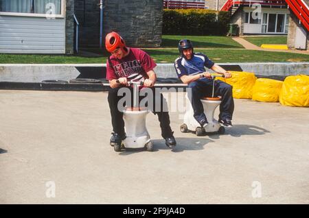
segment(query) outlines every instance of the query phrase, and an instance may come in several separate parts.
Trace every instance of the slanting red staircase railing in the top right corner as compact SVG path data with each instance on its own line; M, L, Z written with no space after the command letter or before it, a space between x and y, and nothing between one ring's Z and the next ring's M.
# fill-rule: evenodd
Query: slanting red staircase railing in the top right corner
M299 21L306 27L309 31L309 9L308 5L301 0L286 0L288 6L293 10L294 14L297 16Z

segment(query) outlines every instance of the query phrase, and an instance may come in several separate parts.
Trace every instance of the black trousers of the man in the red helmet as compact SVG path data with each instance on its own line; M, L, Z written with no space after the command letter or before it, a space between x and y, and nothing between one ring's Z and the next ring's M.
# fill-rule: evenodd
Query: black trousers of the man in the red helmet
M120 88L124 88L124 87L120 87ZM124 133L123 112L119 111L117 108L118 101L122 99L123 97L123 96L117 95L118 90L120 88L111 88L111 90L109 90L108 104L111 110L111 120L112 120L112 125L113 125L113 132L120 134L121 136L124 136L125 133ZM130 88L130 93L132 95L131 99L133 99L133 88ZM153 110L153 113L158 115L158 119L159 119L160 127L161 127L161 136L163 138L170 137L173 134L170 128L170 115L168 114L168 111L163 111L163 108L168 108L167 106L168 104L161 93L159 93L158 95L155 95L155 91L153 88L152 88L152 93L154 95L153 106L155 107L156 102L157 104L159 102L161 103L161 108L159 111ZM145 97L139 97L139 101L141 101L141 99L144 99L144 98ZM133 106L133 102L131 102L130 106Z

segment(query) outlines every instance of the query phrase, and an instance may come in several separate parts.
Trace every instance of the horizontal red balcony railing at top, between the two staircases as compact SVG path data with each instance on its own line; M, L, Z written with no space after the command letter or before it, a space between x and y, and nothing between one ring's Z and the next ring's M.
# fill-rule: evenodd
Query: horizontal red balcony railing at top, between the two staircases
M252 5L253 3L259 3L260 5L286 5L285 0L228 0L221 8L221 10L228 11L233 5Z

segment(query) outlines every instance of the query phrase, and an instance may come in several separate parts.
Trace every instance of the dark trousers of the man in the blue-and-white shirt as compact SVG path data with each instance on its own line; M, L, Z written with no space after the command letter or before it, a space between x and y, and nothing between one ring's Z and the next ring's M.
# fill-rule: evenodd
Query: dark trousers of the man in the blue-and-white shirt
M206 120L204 108L201 101L202 97L211 97L212 95L213 80L202 78L191 82L188 87L192 90L192 97L190 99L192 108L194 110L194 118L198 123L203 125ZM219 119L232 119L234 111L234 101L232 86L220 80L215 81L214 96L221 96L220 114Z

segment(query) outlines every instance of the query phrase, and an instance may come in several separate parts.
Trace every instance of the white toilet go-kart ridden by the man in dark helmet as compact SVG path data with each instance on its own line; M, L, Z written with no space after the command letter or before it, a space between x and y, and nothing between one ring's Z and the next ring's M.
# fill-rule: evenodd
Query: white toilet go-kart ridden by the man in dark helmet
M224 75L211 75L212 80L215 82L216 77L224 77ZM205 133L218 132L219 134L225 133L225 128L220 125L220 123L214 119L214 112L216 108L221 103L221 97L214 97L214 82L212 88L212 97L203 97L201 99L204 113L206 115L208 125L204 129L201 127L200 123L194 119L194 110L191 103L187 104L187 112L183 118L183 124L180 127L181 132L195 132L196 136L202 136ZM189 99L187 99L189 101Z

